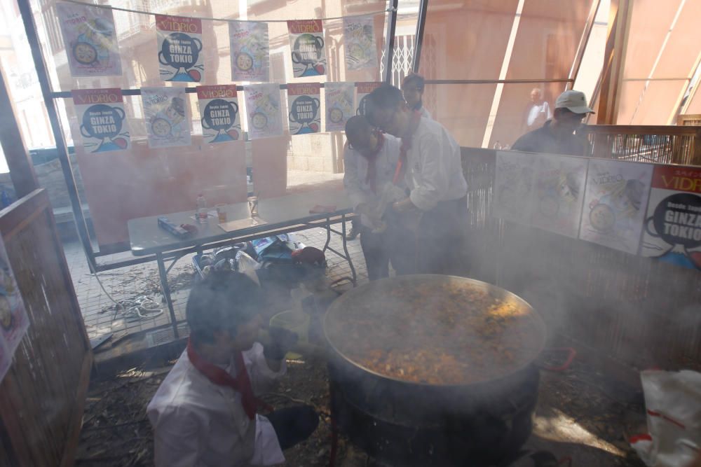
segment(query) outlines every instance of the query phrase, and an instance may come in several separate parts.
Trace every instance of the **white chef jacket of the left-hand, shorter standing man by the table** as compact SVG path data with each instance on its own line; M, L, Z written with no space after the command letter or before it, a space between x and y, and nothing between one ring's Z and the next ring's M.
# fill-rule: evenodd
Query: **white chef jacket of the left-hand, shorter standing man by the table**
M391 134L383 134L383 137L385 142L375 160L377 171L375 188L378 192L383 185L390 183L394 178L402 146L402 140ZM343 174L343 186L346 188L348 197L351 198L353 209L358 207L358 204L379 200L380 193L373 193L370 183L367 182L368 163L365 156L346 146L343 150L343 165L346 167L346 172ZM360 223L369 228L375 227L364 214L360 216Z

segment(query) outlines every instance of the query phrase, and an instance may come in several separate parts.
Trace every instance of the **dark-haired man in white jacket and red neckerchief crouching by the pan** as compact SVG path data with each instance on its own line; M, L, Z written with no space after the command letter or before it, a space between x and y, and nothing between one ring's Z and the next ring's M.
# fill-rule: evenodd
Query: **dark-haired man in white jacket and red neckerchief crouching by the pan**
M257 414L263 393L285 374L292 333L256 342L261 295L243 274L221 271L193 287L187 349L147 407L158 467L267 466L318 424L311 407Z

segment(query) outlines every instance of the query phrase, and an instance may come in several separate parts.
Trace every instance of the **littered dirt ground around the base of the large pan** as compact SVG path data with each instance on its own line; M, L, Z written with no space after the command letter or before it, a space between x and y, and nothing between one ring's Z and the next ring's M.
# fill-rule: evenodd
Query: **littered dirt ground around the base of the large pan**
M109 380L94 381L88 392L76 465L153 466L153 433L146 407L172 364L132 368ZM275 408L306 403L320 413L311 438L285 452L287 466L327 466L331 453L331 418L325 362L318 357L288 361L287 375L263 399ZM643 464L627 442L639 433L645 412L639 394L575 361L566 372L542 372L533 435L524 453L550 452L572 467ZM524 456L517 466L533 467ZM521 461L519 461L521 462ZM339 439L336 466L377 465L360 449Z

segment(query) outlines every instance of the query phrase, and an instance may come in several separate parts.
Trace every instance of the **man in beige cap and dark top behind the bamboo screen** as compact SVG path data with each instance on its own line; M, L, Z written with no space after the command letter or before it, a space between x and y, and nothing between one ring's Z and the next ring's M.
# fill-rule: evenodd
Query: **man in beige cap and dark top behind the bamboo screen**
M575 134L588 113L587 98L581 91L565 91L555 101L552 120L524 134L511 146L514 151L565 155L590 155L589 142Z

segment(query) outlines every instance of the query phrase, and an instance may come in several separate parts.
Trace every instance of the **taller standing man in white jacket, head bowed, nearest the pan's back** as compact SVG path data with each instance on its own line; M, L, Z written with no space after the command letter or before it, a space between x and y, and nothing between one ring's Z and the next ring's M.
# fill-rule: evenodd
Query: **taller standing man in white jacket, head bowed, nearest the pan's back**
M407 259L411 258L409 251L418 254L416 272L460 272L464 265L458 264L457 258L465 248L468 215L468 184L460 146L440 123L409 109L402 92L394 86L383 85L368 99L371 122L402 139L398 172L404 176L409 195L395 202L393 211L420 217L416 235L398 232L393 235L393 244Z

